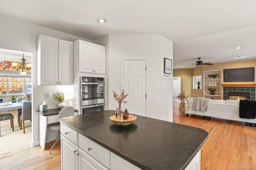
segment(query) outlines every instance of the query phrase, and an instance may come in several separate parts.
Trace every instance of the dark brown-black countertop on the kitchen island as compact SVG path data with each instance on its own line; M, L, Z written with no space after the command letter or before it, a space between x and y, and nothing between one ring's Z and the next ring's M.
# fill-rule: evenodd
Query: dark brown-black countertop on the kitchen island
M109 119L114 113L63 117L60 122L145 170L185 169L208 139L203 129L138 115L130 125L117 125Z

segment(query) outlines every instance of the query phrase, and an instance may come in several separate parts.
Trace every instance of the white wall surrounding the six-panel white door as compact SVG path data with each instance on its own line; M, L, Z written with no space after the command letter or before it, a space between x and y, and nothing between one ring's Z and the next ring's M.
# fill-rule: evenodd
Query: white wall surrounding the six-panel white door
M172 41L161 35L108 35L98 42L108 49L108 88L106 98L109 109L117 102L112 91L121 93L121 59L146 59L147 66L147 117L172 121L172 80L163 80L164 57L172 60ZM172 75L171 75L172 77ZM111 80L111 81L110 81Z

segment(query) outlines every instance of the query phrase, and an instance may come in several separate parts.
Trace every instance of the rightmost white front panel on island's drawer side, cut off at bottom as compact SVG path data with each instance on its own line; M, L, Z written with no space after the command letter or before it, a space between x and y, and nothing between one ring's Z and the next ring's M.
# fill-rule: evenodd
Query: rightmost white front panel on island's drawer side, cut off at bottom
M130 162L120 158L116 154L111 152L111 161L110 161L111 170L141 170L140 168L134 166Z

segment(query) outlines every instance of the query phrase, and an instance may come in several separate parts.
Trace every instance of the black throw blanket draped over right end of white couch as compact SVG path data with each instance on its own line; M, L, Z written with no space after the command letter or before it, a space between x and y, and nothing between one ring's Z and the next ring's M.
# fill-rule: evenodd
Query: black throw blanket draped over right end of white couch
M247 119L255 119L256 118L256 101L240 100L239 117L247 118Z

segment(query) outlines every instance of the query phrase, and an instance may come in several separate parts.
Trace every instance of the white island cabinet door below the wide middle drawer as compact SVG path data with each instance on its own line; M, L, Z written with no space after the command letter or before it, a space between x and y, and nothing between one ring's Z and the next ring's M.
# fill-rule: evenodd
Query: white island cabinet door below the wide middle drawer
M78 162L79 170L108 170L108 168L92 158L92 156L84 152L82 149L79 149Z

